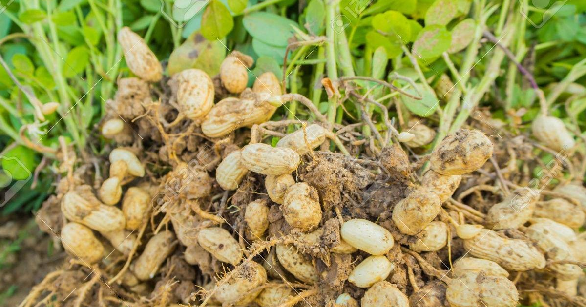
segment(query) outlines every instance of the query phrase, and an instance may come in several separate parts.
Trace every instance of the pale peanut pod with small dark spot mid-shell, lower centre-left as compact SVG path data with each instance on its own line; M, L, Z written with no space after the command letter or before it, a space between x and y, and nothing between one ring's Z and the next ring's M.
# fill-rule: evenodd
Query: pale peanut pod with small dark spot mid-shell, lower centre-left
M230 264L238 264L242 260L243 251L228 230L222 227L207 227L197 234L197 243L218 260Z

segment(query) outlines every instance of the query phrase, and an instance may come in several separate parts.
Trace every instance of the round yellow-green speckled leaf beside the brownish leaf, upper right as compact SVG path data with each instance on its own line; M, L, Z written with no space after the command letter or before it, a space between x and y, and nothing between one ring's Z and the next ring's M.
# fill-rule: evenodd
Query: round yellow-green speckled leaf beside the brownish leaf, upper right
M447 51L452 43L452 35L443 26L426 26L419 32L413 43L414 55L423 60L431 60Z

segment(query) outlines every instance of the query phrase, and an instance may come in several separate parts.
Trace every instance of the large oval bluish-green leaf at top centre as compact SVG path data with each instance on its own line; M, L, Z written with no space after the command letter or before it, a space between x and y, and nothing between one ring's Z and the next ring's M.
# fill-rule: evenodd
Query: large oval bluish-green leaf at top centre
M297 24L282 16L268 12L254 12L244 16L244 27L250 36L272 46L286 47L294 36Z

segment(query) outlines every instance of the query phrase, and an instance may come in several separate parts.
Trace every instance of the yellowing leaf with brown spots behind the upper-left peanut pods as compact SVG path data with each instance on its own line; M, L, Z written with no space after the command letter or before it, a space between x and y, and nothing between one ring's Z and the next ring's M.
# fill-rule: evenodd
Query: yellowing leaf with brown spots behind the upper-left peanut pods
M206 40L199 32L193 32L169 56L168 70L173 75L188 68L197 68L208 75L220 73L220 65L226 57L224 40Z

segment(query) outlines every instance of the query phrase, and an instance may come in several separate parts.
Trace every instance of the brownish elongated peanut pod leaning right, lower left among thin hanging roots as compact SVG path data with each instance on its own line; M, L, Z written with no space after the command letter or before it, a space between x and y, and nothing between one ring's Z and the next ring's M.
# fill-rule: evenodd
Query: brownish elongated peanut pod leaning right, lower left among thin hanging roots
M175 234L170 230L155 234L148 240L141 256L132 263L132 272L142 281L153 278L175 246Z

